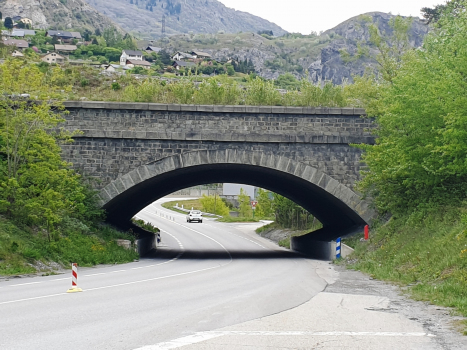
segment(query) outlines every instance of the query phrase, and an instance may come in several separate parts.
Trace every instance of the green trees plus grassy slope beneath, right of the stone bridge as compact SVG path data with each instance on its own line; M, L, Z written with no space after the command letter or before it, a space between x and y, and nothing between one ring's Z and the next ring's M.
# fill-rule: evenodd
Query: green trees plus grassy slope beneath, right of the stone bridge
M391 218L356 244L350 266L467 316L465 5L443 8L420 50L405 44L404 21L393 24L397 46L372 33L380 74L351 87L378 125L376 144L358 146L358 187Z

